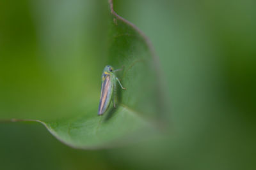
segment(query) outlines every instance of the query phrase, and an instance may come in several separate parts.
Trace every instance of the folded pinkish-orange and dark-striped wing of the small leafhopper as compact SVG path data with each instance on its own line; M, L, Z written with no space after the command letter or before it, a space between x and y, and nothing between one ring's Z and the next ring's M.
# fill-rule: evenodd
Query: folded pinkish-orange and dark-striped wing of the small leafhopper
M102 115L108 108L110 103L112 90L113 90L113 83L111 82L110 75L104 75L105 80L101 84L101 92L100 92L100 104L98 115Z

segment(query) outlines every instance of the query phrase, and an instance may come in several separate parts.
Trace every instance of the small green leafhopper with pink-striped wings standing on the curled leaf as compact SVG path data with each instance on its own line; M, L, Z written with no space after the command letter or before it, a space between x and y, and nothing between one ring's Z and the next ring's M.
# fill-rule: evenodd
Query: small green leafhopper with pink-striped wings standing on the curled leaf
M118 78L115 76L116 71L120 71L121 69L114 70L111 66L106 66L103 70L101 76L101 90L100 90L100 104L98 115L103 115L105 111L108 109L111 99L113 99L113 105L116 107L115 104L115 91L116 91L116 81L120 84L122 89L125 89ZM114 91L114 96L112 96Z

